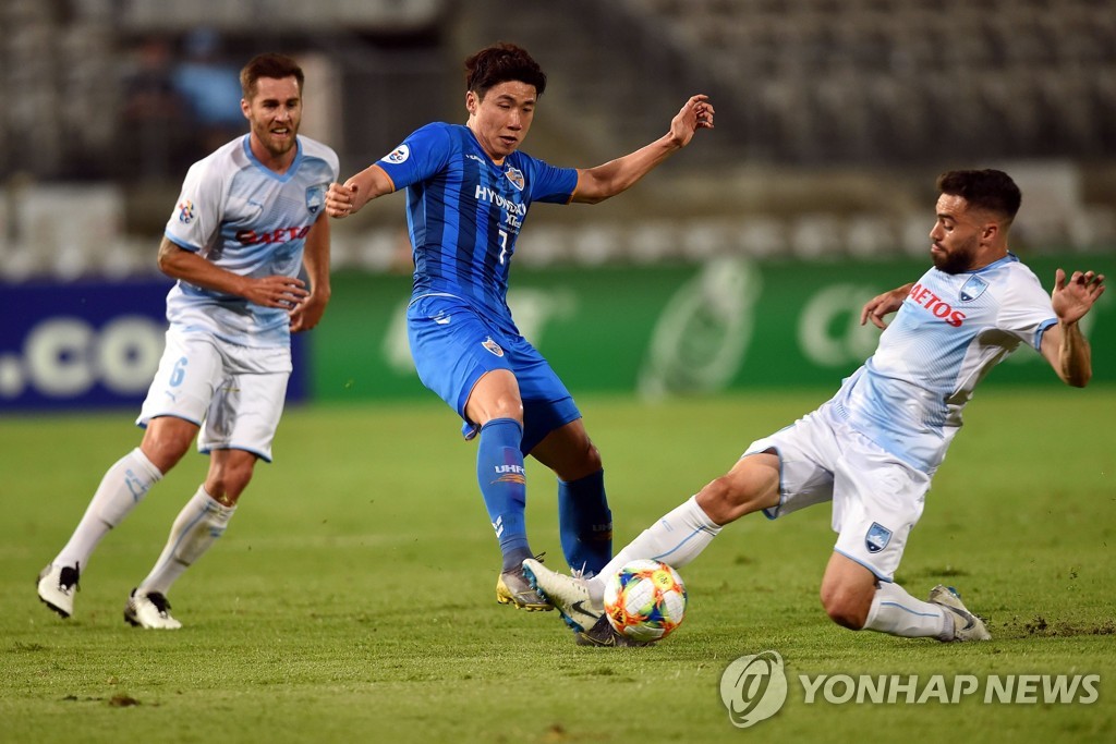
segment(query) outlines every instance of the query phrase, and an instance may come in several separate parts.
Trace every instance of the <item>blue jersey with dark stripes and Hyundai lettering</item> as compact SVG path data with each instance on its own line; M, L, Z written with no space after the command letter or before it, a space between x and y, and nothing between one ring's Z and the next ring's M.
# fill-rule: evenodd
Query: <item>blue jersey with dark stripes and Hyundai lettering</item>
M508 270L531 202L569 203L577 171L514 152L497 165L463 125L429 124L377 165L407 190L413 298L451 294L516 331Z

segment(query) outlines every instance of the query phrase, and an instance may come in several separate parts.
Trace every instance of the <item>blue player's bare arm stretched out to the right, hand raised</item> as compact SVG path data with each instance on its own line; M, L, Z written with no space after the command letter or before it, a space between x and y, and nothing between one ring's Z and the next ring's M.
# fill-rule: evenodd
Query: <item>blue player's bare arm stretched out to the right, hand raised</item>
M691 96L671 119L670 131L655 142L604 165L579 168L574 201L596 204L626 191L656 165L689 145L698 129L712 129L713 113L709 96Z

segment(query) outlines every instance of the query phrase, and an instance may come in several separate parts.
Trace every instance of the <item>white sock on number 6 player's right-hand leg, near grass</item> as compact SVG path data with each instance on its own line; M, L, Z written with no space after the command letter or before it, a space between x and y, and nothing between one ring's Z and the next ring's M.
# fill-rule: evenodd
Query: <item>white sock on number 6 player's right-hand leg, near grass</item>
M198 492L179 512L171 528L163 553L147 578L140 582L140 591L166 595L171 584L224 534L235 506L225 506L199 486Z

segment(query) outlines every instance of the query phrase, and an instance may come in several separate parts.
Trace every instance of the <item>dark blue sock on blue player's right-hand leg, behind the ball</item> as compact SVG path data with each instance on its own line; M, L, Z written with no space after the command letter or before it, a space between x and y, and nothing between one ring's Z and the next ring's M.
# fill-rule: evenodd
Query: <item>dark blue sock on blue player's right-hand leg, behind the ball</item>
M605 472L558 481L558 523L566 562L596 576L613 557L613 513L605 497Z

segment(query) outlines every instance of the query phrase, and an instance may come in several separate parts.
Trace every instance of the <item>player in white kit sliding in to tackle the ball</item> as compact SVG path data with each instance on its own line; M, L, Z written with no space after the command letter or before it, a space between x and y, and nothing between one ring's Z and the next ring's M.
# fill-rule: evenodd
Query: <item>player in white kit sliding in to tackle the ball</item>
M1024 344L1066 384L1084 387L1091 365L1078 321L1105 286L1091 271L1067 281L1059 269L1047 296L1008 251L1021 201L1008 174L952 171L937 187L934 267L864 307L862 323L885 330L876 352L830 400L753 442L728 474L656 521L597 577L586 581L523 562L536 589L584 639L625 642L602 616L602 597L607 579L629 561L679 568L744 514L762 511L775 520L826 501L838 537L821 603L835 622L943 641L989 639L955 590L937 586L922 601L894 582L895 571L973 388ZM886 326L884 317L896 310Z

